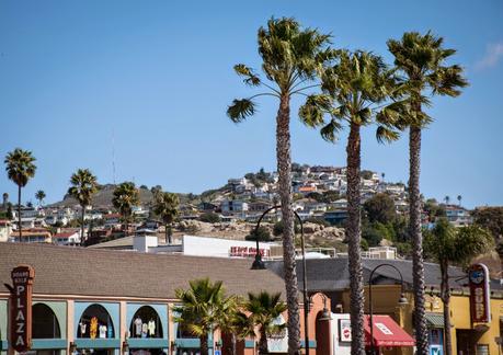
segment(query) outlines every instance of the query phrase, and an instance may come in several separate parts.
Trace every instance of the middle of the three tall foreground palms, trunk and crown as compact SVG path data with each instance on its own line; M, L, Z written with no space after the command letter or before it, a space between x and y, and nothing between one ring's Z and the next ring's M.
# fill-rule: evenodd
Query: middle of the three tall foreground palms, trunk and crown
M377 139L391 141L399 135L393 127L393 104L381 113L378 104L389 98L395 89L395 77L379 56L357 50L340 50L335 65L328 68L322 77L322 89L334 100L334 107L329 111L330 121L321 129L322 137L329 141L336 139L338 131L345 122L350 126L347 138L347 225L350 288L351 288L351 328L352 354L361 355L365 351L364 337L364 293L361 250L361 129L376 124ZM323 94L321 94L323 95ZM313 95L301 107L305 119L316 119L323 114L321 95ZM315 117L315 118L312 118Z

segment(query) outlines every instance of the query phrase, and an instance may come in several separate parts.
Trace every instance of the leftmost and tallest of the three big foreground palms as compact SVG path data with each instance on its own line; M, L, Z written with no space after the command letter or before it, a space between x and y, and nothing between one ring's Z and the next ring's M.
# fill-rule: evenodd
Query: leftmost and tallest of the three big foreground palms
M239 123L255 113L256 103L253 99L266 95L279 101L276 115L276 160L282 218L285 224L283 257L288 305L288 351L295 354L300 351L300 322L291 206L290 99L312 88L306 83L316 79L323 64L333 57L333 51L328 48L329 35L320 34L317 30L301 28L294 19L271 19L265 28L259 30L258 37L266 80L262 80L255 71L242 64L235 66L235 70L244 78L245 84L265 88L266 91L248 99L233 100L227 108L227 115L232 122Z

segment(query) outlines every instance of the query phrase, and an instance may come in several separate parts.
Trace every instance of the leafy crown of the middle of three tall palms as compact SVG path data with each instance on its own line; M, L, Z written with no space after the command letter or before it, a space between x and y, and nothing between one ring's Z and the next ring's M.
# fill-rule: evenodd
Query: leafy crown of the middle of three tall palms
M339 50L335 64L323 71L322 94L308 96L299 115L310 126L329 122L321 129L325 140L334 141L342 122L358 126L377 124L379 141L399 138L395 129L400 105L391 103L379 111L377 104L393 95L397 78L382 58L364 50Z

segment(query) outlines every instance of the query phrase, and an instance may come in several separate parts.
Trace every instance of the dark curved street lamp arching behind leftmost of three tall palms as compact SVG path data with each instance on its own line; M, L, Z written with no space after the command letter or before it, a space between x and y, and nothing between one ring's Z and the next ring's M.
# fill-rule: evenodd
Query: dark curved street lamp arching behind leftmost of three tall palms
M252 264L252 270L264 270L265 264L262 260L262 254L260 253L259 250L259 228L262 219L267 215L271 210L273 209L278 209L282 208L281 205L276 205L273 207L267 208L262 216L260 216L259 221L255 225L255 238L256 238L256 251L255 251L255 260L253 261ZM309 300L307 296L307 266L306 266L306 244L304 241L304 224L302 219L300 216L297 214L297 211L294 210L295 217L297 217L297 220L300 224L300 248L302 250L302 300L304 300L304 342L305 342L305 347L306 347L306 355L309 355L309 324L308 324L308 317L309 317ZM295 228L294 228L295 230Z

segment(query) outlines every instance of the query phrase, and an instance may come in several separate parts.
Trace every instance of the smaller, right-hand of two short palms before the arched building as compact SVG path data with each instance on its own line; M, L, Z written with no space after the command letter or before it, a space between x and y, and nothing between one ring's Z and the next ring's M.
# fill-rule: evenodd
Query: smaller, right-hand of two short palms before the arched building
M244 304L244 310L250 313L249 318L251 323L259 328L259 354L268 354L268 335L279 333L285 328L285 324L275 323L275 320L287 310L281 297L281 294L270 295L267 291L248 294L248 301Z

